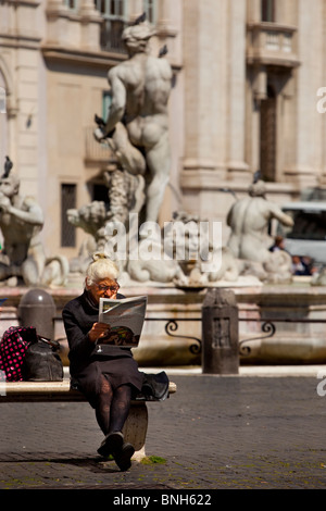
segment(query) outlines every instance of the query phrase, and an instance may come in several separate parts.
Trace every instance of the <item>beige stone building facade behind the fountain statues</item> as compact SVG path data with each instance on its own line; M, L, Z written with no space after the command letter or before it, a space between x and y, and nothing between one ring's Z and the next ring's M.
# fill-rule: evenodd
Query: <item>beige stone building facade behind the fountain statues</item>
M121 30L142 12L174 73L161 222L180 209L225 222L258 170L279 203L325 184L326 0L2 0L0 162L42 207L49 254L72 258L85 238L67 209L106 200L115 161L93 116L126 58Z

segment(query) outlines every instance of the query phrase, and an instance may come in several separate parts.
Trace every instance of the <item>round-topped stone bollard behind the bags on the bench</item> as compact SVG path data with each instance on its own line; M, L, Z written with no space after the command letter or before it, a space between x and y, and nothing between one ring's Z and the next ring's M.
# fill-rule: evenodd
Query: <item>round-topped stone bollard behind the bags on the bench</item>
M21 326L34 326L38 335L53 340L57 308L53 298L43 289L30 289L21 299Z

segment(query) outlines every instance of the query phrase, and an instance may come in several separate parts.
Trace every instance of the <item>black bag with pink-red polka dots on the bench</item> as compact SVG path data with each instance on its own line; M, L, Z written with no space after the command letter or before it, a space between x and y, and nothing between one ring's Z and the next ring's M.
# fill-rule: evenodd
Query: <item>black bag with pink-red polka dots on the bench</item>
M4 332L0 342L0 370L5 373L7 382L23 381L25 353L35 339L33 327L11 326Z

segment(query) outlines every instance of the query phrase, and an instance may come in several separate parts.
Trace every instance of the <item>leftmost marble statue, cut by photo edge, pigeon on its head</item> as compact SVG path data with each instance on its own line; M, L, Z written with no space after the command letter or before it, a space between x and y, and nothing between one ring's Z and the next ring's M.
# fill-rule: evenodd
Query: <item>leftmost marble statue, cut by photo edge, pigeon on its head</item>
M68 273L65 258L47 259L39 234L43 227L41 208L33 197L20 195L20 179L7 160L0 178L0 282L15 286L62 285Z

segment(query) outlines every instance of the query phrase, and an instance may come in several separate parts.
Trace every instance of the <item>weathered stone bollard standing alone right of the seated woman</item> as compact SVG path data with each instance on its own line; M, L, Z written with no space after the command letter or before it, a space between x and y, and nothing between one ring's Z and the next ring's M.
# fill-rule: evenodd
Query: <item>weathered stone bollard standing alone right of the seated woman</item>
M233 291L209 289L203 301L202 372L239 373L238 307Z

